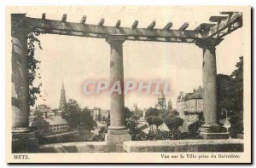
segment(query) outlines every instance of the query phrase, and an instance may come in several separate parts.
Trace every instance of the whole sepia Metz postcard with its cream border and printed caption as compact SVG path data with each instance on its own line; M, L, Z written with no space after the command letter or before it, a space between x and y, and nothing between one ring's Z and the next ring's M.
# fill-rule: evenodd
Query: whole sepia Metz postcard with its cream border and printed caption
M8 163L250 163L251 8L6 8Z

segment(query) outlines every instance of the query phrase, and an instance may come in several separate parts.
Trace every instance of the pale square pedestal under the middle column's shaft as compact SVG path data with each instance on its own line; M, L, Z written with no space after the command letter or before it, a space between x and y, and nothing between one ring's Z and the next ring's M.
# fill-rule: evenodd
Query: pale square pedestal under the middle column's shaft
M105 142L108 143L108 152L122 153L123 143L131 141L129 130L108 130Z

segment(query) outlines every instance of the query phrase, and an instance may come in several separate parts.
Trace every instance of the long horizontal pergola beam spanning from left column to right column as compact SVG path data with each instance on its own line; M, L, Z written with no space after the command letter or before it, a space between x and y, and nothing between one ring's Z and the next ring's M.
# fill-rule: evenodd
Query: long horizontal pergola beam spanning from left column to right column
M188 39L199 39L201 35L199 32L192 30L163 30L163 29L152 29L148 30L147 28L137 28L137 31L134 31L131 27L119 27L120 31L117 31L115 26L104 26L104 29L99 28L97 25L91 24L80 24L74 22L66 22L65 29L63 29L63 23L61 20L45 20L44 24L41 19L29 18L26 17L27 27L31 30L37 30L38 32L45 33L55 33L61 31L61 35L69 36L81 36L81 37L90 37L90 38L104 38L109 35L125 36L125 37L137 37L136 40L140 38L148 38L147 41L154 39L158 41L160 38L188 38ZM78 35L79 34L79 35ZM100 35L100 36L98 36ZM172 41L173 41L172 40ZM178 41L178 40L177 40Z

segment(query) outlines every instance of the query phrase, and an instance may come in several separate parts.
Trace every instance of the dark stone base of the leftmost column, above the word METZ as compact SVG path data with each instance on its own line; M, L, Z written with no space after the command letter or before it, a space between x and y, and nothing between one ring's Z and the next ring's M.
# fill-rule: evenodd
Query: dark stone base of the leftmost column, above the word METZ
M26 128L12 130L12 153L36 153L38 149L38 139L32 130Z

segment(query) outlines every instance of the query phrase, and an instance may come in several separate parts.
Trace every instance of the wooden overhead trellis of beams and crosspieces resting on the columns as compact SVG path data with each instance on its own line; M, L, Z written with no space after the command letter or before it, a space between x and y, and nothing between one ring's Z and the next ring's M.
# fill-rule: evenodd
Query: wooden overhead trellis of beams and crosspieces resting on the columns
M26 17L26 14L20 18L20 14L17 14L17 17L14 14L12 25L25 22L26 27L32 31L88 38L108 38L116 35L135 41L197 43L201 39L224 38L225 35L242 26L240 12L221 12L220 14L210 17L210 23L202 23L195 30L189 30L187 22L174 30L171 21L162 29L156 29L154 28L155 20L147 28L138 28L138 20L135 20L131 27L122 27L121 20L117 20L115 26L104 26L103 18L97 25L91 25L86 23L86 16L83 16L79 23L73 23L67 22L67 14L63 14L61 20L48 20L46 14L42 14L40 19Z

